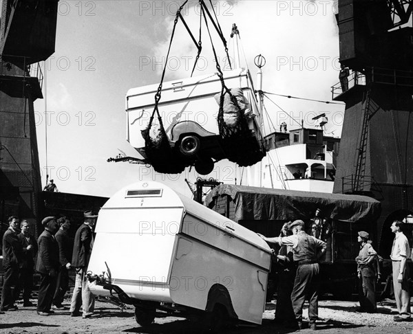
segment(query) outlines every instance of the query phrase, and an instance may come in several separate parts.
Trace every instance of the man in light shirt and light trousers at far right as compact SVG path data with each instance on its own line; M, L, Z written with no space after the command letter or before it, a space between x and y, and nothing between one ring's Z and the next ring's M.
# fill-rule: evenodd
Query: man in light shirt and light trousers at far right
M410 291L409 291L409 267L407 267L407 258L410 257L410 247L407 237L403 234L403 223L394 221L390 226L392 232L396 235L393 241L392 269L393 269L393 288L394 298L396 299L397 311L399 315L394 315L394 321L411 321L410 317Z

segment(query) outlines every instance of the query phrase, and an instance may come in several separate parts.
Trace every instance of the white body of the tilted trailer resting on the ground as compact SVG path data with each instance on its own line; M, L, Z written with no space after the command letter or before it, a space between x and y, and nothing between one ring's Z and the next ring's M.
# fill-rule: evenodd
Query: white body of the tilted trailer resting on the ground
M128 197L129 190L159 194ZM219 283L240 320L261 323L271 249L255 232L162 183L134 183L105 203L88 271L107 271L105 262L112 284L130 297L204 310L209 289Z

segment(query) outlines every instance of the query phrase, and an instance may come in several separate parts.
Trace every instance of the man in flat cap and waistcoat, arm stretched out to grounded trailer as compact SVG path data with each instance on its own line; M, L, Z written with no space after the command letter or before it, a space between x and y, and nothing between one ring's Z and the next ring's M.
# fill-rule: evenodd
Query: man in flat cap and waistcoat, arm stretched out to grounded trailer
M267 243L279 243L293 247L293 260L297 265L291 302L295 313L296 327L303 329L303 306L308 296L308 318L310 328L315 330L318 318L319 263L318 260L326 252L326 243L304 231L304 221L297 220L290 224L292 236L267 238L259 234Z

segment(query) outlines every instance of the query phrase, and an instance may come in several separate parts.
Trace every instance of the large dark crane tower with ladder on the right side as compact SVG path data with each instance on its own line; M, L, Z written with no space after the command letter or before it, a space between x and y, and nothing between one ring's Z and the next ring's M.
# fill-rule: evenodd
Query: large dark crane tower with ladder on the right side
M412 0L339 0L340 63L352 69L334 192L381 201L379 254L394 219L413 212ZM338 94L337 94L338 92Z

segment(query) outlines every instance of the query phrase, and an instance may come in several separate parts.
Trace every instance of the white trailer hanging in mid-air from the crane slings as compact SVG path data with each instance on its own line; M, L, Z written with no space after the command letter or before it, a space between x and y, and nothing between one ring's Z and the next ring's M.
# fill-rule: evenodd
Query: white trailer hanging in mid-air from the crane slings
M231 94L221 94L220 74L207 74L164 82L157 106L153 97L158 85L129 89L128 142L160 172L181 172L187 166L195 166L198 173L207 175L222 159L240 166L259 162L266 150L251 75L247 69L235 69L224 71L222 76ZM151 122L155 107L160 117ZM161 127L171 153L169 161L164 156L156 164L148 157L147 141L156 144L164 140ZM149 137L144 135L147 130ZM156 154L160 158L162 151Z

